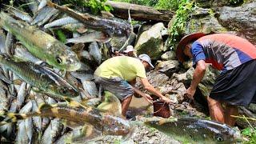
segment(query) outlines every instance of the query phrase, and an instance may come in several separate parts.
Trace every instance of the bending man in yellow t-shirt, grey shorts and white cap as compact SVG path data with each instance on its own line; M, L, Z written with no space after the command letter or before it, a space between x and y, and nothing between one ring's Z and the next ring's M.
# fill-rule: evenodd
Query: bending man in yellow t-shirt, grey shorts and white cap
M150 67L154 68L151 64L150 57L146 54L141 54L138 58L127 56L110 58L95 70L95 82L101 84L105 90L110 91L110 93L118 97L122 102L122 115L124 116L126 116L126 110L130 105L134 92L141 95L148 102L152 101L149 94L145 94L130 85L129 82L133 82L136 77L140 78L142 85L150 93L158 96L162 101L172 102L158 90L154 89L154 86L148 82L145 69L150 69Z

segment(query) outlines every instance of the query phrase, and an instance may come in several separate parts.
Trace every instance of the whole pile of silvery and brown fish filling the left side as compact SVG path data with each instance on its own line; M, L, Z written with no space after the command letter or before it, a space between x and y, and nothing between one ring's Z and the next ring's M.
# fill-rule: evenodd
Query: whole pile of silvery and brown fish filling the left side
M128 38L130 23L46 0L23 5L5 6L0 13L1 141L65 143L129 135L129 122L115 113L121 110L118 99L110 96L101 109L95 107L101 93L93 73L102 55L110 56L110 36ZM117 110L107 110L109 104Z

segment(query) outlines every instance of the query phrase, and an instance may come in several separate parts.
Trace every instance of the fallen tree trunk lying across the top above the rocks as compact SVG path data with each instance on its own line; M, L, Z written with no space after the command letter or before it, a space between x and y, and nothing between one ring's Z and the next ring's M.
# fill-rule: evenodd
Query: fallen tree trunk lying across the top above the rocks
M169 10L156 10L149 6L140 6L125 2L113 2L108 1L106 5L110 5L114 8L111 11L114 16L118 18L129 18L128 10L130 9L130 16L134 20L138 21L158 21L169 22L174 16L174 12Z

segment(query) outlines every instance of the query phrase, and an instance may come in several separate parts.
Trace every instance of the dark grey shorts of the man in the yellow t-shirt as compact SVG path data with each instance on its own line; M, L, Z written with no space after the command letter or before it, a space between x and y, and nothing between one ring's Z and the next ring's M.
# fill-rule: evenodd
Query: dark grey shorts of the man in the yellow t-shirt
M102 78L95 77L95 82L102 85L104 90L108 90L110 93L118 97L119 100L131 97L134 94L134 89L128 82L122 78Z

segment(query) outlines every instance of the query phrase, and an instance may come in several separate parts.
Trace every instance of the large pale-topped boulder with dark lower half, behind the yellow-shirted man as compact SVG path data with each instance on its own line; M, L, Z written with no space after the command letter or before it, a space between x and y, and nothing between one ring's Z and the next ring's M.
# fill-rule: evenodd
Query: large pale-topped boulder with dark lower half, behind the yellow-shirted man
M153 60L161 57L164 50L161 31L165 30L162 22L155 24L150 30L144 31L134 46L137 54L148 54Z

